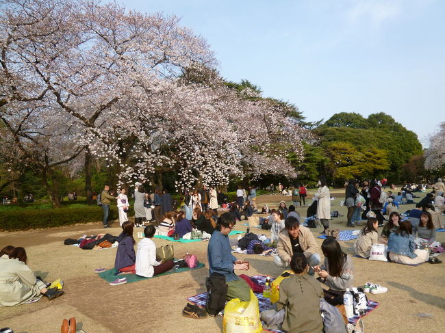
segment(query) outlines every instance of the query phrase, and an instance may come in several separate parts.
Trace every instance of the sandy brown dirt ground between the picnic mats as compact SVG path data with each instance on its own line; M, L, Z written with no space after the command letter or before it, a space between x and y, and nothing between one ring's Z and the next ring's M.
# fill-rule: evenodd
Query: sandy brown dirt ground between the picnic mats
M340 190L333 195L340 197L342 193ZM260 196L257 204L267 202L270 208L274 208L280 200L285 200L288 205L291 203L290 197L272 195ZM340 207L340 198L331 204L331 211L337 210L343 215L331 220L331 226L346 229L346 208ZM400 211L411 207L403 205ZM297 211L305 216L306 209L302 207ZM235 229L245 230L246 226L240 224ZM108 231L118 235L120 228L114 223ZM316 236L320 231L320 227L313 229ZM34 304L0 308L0 328L10 327L16 333L53 333L59 332L62 319L76 317L78 326L88 333L221 331L222 317L194 320L181 316L186 298L205 291L207 242L174 243L175 257L179 258L186 252L196 254L206 265L203 269L112 287L94 274L94 269L112 268L116 248L81 250L63 244L66 238L99 232L103 232L100 222L46 230L0 232L0 248L5 245L23 246L27 250L29 266L37 275L48 281L62 278L65 282L65 295L58 299L40 299ZM268 234L260 229L257 233ZM321 245L322 239L316 240ZM437 240L445 241L445 232L437 233ZM155 243L171 244L162 239L155 239ZM346 252L353 241L340 243ZM251 268L247 272L250 276L278 276L281 273L271 257L236 256L250 262ZM370 299L379 302L380 306L364 317L367 333L445 332L445 263L411 267L358 258L353 258L353 263L355 285L370 281L389 289L384 294L370 295ZM242 273L237 271L237 274Z

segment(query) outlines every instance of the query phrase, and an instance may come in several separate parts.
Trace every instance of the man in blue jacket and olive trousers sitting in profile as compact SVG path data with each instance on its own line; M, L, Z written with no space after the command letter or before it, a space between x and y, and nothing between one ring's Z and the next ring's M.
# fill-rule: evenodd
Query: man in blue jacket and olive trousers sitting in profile
M235 274L235 269L247 270L249 264L243 263L231 254L229 232L235 226L236 221L229 213L218 217L216 230L210 238L207 247L210 274L223 274L227 283L227 299L239 298L242 302L251 299L251 287L246 281Z

